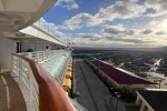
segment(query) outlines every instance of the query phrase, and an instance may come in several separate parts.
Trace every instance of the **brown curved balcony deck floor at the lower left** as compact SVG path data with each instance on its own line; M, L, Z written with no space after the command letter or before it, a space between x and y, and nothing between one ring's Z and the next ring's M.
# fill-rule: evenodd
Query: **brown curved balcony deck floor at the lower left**
M27 111L21 90L10 72L0 73L0 111Z

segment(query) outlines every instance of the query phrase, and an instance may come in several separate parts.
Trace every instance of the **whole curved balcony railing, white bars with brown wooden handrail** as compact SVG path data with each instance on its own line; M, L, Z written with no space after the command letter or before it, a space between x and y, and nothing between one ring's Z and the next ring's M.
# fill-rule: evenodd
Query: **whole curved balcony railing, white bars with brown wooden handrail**
M49 50L12 54L12 77L22 91L28 111L85 111L40 64L65 52Z

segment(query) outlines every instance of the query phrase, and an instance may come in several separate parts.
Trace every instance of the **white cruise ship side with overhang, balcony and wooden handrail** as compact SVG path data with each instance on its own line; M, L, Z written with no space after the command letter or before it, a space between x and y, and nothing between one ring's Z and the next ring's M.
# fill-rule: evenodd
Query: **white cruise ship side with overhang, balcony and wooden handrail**
M71 49L41 18L56 1L0 1L0 109L85 110L69 97Z

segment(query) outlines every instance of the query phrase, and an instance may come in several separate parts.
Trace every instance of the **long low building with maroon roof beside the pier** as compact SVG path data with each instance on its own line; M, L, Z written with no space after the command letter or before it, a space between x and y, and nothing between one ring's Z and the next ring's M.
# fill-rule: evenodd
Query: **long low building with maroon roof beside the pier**
M98 71L98 73L110 82L115 88L129 85L131 88L156 88L157 83L143 79L134 73L112 67L100 60L89 61L90 65Z

